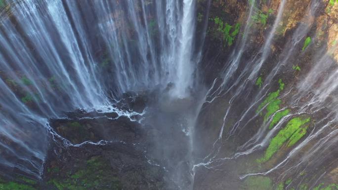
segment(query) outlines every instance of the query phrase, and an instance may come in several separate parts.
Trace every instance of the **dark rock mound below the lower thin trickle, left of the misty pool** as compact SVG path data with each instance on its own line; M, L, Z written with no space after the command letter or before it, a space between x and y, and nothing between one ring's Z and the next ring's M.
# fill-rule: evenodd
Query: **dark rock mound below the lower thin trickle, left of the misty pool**
M170 190L163 168L148 163L134 145L87 144L68 149L55 147L45 164L49 190ZM166 187L165 187L166 186Z

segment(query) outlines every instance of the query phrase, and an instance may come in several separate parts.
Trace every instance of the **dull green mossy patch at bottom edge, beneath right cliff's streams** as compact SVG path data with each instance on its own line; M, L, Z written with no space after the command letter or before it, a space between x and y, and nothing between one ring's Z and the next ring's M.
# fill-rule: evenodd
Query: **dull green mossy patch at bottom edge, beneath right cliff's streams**
M272 190L272 180L263 176L250 176L245 182L244 190Z

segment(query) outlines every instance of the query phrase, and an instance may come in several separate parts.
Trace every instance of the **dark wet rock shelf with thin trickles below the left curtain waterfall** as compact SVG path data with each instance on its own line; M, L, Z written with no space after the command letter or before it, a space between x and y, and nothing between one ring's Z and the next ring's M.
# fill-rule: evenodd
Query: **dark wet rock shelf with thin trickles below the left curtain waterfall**
M147 158L151 135L137 122L144 100L126 95L116 107L128 108L130 118L116 113L68 114L53 119L61 137L44 165L44 188L55 190L175 190L166 170ZM120 107L119 107L120 106ZM136 108L137 113L132 111ZM149 129L147 129L149 130ZM64 138L64 139L63 139ZM65 141L73 145L64 147ZM147 147L148 146L148 147ZM147 147L147 149L146 149ZM151 149L151 147L150 147Z

